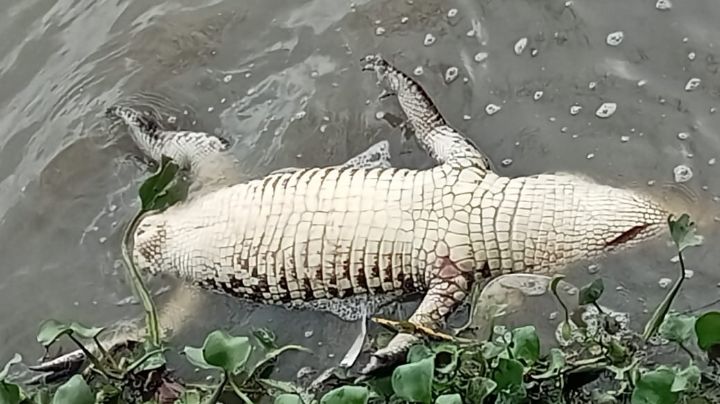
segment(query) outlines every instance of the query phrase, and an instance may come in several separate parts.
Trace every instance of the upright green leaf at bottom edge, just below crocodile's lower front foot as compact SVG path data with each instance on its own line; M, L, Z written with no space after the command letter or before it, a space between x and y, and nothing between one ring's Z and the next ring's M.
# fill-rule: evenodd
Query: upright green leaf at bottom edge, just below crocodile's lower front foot
M410 402L431 403L434 370L434 358L398 366L392 374L395 394Z

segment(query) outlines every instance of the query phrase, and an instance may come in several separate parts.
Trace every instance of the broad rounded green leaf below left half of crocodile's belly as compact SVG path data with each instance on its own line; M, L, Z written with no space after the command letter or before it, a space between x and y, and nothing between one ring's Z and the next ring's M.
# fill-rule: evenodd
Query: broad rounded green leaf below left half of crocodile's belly
M209 365L236 374L250 358L252 348L248 337L233 337L224 331L215 330L205 338L203 359Z

